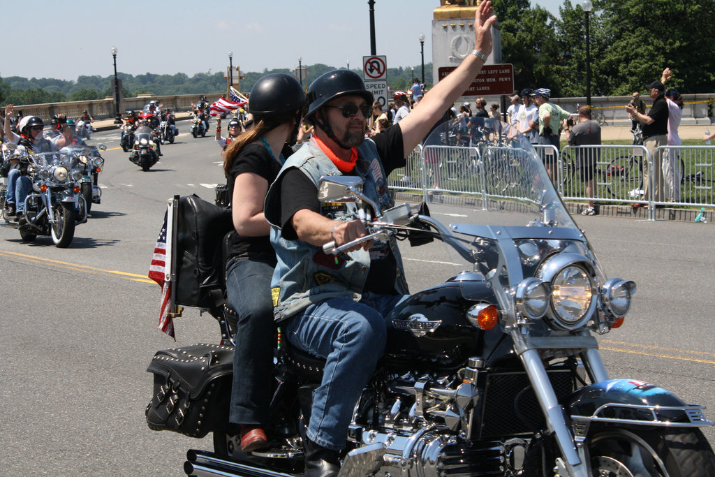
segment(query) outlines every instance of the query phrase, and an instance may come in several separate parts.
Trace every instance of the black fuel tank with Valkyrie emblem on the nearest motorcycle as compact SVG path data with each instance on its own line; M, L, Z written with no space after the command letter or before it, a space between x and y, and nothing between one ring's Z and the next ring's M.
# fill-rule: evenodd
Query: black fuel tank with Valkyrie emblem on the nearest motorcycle
M450 370L467 358L488 355L508 336L498 326L483 331L470 323L467 310L477 303L496 304L478 274L454 277L410 295L387 317L386 367Z

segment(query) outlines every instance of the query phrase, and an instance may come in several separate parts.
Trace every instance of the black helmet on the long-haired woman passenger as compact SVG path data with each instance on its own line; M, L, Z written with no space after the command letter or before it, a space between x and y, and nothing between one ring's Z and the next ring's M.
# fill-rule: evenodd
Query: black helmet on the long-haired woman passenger
M259 115L280 114L305 106L305 93L297 79L285 73L271 73L251 88L248 112Z

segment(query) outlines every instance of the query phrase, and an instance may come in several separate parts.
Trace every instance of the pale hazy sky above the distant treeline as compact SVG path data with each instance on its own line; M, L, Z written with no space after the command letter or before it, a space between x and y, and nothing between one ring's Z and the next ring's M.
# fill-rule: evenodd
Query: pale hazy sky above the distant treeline
M571 0L577 1L577 0ZM358 68L370 54L368 0L3 1L0 77L175 74L225 71L228 51L242 71L323 63ZM377 54L388 67L432 60L439 0L375 0ZM538 0L558 15L563 0Z

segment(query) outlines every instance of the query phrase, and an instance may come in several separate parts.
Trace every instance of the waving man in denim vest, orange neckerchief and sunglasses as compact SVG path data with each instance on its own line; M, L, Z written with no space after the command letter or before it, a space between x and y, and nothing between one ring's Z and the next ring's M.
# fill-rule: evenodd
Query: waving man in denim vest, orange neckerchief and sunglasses
M355 175L363 194L385 210L393 205L388 175L422 141L482 69L492 50L490 1L475 12L475 51L440 80L399 124L365 139L373 94L347 69L327 72L307 92L305 121L315 136L287 159L265 202L277 256L274 315L295 347L325 358L322 384L307 428L306 477L335 476L355 402L387 340L385 315L408 293L395 240L367 242L340 255L340 246L366 235L355 204L320 202L321 176ZM378 211L372 211L375 217Z

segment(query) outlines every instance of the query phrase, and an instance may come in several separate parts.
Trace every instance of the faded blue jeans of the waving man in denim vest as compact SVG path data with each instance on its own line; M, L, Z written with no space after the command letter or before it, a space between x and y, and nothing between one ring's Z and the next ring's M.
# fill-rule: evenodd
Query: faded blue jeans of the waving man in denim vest
M315 390L307 436L335 451L345 447L347 426L387 341L385 316L403 295L365 293L360 302L330 299L287 320L286 338L297 348L325 358Z

